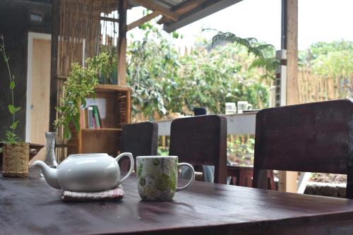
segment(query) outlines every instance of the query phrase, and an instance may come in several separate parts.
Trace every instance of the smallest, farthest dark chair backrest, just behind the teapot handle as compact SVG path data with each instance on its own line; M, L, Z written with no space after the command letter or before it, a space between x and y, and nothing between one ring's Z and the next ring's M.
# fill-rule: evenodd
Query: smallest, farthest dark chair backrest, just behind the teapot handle
M126 124L121 132L121 152L131 152L133 159L137 156L157 155L158 125L150 121ZM122 171L128 170L129 161L120 164Z

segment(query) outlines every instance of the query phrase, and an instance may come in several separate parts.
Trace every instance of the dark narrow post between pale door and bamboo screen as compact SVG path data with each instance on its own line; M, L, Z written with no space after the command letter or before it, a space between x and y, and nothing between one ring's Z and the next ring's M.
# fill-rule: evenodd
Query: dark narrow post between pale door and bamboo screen
M49 104L49 130L56 131L56 104L58 94L57 69L58 69L58 40L60 25L60 0L52 0L52 56L50 61L50 104Z

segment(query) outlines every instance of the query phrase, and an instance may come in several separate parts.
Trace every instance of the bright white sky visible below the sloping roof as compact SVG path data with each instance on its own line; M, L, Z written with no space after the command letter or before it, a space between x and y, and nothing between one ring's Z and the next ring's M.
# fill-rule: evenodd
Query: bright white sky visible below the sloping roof
M353 0L299 0L298 48L303 50L313 42L333 40L353 41ZM128 22L142 16L142 8L128 12ZM244 0L213 15L177 30L183 35L176 47L192 47L200 36L210 40L213 28L232 32L239 37L256 37L280 49L281 0ZM131 30L138 35L138 30Z

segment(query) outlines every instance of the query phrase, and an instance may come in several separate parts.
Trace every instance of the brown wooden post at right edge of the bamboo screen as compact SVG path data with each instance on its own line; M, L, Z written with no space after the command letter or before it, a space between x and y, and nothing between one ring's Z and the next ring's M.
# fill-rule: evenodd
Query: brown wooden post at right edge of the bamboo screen
M126 85L126 11L127 0L119 0L119 38L118 38L118 83Z

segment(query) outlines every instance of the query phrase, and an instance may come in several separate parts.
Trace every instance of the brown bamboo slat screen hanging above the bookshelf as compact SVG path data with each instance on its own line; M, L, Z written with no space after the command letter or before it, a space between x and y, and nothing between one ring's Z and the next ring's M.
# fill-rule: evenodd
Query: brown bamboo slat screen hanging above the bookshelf
M99 53L101 44L110 47L105 51L114 50L117 37L117 6L116 0L61 0L59 13L58 67L57 88L58 105L62 88L72 63L84 65L88 57ZM102 17L109 16L109 17ZM112 18L115 18L112 20ZM104 20L106 19L106 20ZM113 23L114 27L107 26ZM111 30L114 30L114 32ZM108 48L108 49L107 49ZM58 130L56 139L56 157L61 162L67 153L67 143L63 138L63 130Z

